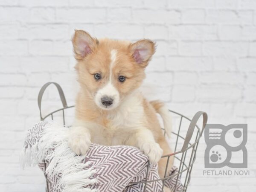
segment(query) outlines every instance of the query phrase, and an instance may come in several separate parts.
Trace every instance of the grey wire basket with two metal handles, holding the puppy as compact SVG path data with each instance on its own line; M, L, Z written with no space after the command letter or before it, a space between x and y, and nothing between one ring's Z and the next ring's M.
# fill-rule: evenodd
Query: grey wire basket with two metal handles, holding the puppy
M50 85L54 84L57 89L59 96L61 98L62 108L59 108L58 110L52 111L51 113L47 114L46 116L42 116L41 112L41 102L42 97L44 95L44 91L46 88ZM64 92L61 88L61 86L55 82L48 82L44 84L44 86L41 88L39 94L38 94L38 108L40 111L40 118L41 120L45 119L52 119L52 120L58 120L61 121L63 125L67 125L66 118L69 116L69 113L66 113L68 109L74 108L74 105L68 106L67 101L64 95ZM169 110L173 115L173 131L172 131L172 139L166 139L168 143L172 146L172 149L174 147L174 152L172 154L164 154L161 158L167 158L166 160L166 169L165 169L165 175L163 178L156 179L156 180L147 180L148 178L148 171L146 173L146 179L145 181L140 182L134 182L132 184L137 183L143 183L144 189L143 192L146 192L147 189L147 183L150 182L157 182L161 180L163 182L163 187L161 192L164 191L164 183L166 180L169 180L172 178L172 180L175 180L175 186L174 190L175 192L186 192L190 179L191 179L191 172L193 164L195 163L196 158L196 151L198 148L199 140L203 134L205 125L207 123L207 113L198 111L192 119L189 119L188 117L177 113L175 111ZM68 114L68 115L67 115ZM198 120L202 116L202 127L199 128L197 125ZM70 117L70 116L69 116ZM73 118L73 114L72 114ZM163 130L164 131L164 130ZM164 133L165 134L165 133ZM174 165L177 166L178 172L174 175L167 176L167 169L168 169L168 163L171 157L174 157ZM148 163L147 170L149 169L150 163ZM47 178L47 177L46 177ZM180 180L182 183L182 187L177 189L177 181ZM47 182L47 189L48 192L48 181Z

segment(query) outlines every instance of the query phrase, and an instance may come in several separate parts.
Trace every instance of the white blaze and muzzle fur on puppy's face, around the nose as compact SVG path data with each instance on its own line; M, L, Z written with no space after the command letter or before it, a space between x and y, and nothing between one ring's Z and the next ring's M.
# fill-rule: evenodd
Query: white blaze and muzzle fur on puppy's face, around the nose
M115 108L119 104L119 92L116 90L116 87L113 86L112 84L112 69L113 66L115 65L116 61L116 49L111 50L111 62L109 64L109 81L108 84L105 85L105 87L102 87L100 90L98 90L96 97L95 97L95 102L96 104L104 109L111 109ZM101 103L101 98L103 96L108 96L113 99L113 104L110 105L108 108L102 105Z

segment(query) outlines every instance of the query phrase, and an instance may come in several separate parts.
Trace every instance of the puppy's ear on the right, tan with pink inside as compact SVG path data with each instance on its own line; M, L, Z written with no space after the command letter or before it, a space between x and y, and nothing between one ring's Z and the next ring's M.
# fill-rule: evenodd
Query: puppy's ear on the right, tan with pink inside
M143 39L131 44L130 50L134 61L140 66L146 67L155 52L155 44L153 41Z

